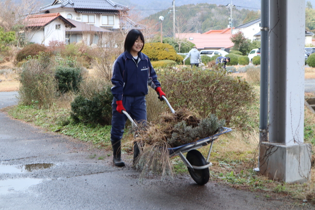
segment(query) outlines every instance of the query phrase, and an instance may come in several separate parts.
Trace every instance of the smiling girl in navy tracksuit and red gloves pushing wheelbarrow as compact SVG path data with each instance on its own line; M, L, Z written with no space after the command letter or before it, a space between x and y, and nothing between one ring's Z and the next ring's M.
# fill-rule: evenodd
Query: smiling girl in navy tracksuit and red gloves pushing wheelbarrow
M125 166L125 162L121 160L121 139L127 117L122 111L129 113L135 122L143 123L147 119L145 95L148 94L148 86L157 91L160 100L165 96L148 56L141 52L143 47L142 32L132 29L125 39L125 52L116 59L112 67L111 93L114 98L111 104L110 141L113 162L119 167Z

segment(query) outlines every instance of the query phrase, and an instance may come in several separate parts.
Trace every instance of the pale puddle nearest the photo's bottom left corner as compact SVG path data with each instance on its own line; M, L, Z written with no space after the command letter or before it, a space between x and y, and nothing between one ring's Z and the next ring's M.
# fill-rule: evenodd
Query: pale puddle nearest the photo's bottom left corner
M43 179L36 178L18 178L0 180L0 194L8 194L13 192L24 191L32 185L39 184Z

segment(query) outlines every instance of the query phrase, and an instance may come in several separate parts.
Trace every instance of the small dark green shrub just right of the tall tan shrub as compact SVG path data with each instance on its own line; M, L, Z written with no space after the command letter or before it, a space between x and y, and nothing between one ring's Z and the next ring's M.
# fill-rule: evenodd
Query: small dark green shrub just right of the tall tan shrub
M83 71L81 68L57 66L55 78L58 84L58 90L61 93L68 91L77 92L79 83L82 81Z

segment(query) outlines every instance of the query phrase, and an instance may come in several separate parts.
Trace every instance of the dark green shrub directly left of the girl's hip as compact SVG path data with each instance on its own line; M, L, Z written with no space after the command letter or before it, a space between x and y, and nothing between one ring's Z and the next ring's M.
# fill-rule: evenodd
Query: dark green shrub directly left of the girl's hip
M113 99L110 89L108 84L103 86L103 90L91 93L90 98L78 95L71 102L71 118L76 123L110 125Z

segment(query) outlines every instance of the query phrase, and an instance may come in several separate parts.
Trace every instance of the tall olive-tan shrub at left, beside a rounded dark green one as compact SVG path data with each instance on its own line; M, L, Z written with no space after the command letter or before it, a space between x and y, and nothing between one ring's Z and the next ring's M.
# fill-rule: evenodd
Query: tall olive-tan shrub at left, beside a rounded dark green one
M31 59L23 64L20 73L20 102L48 108L56 93L56 81L50 67L43 68L39 60Z

